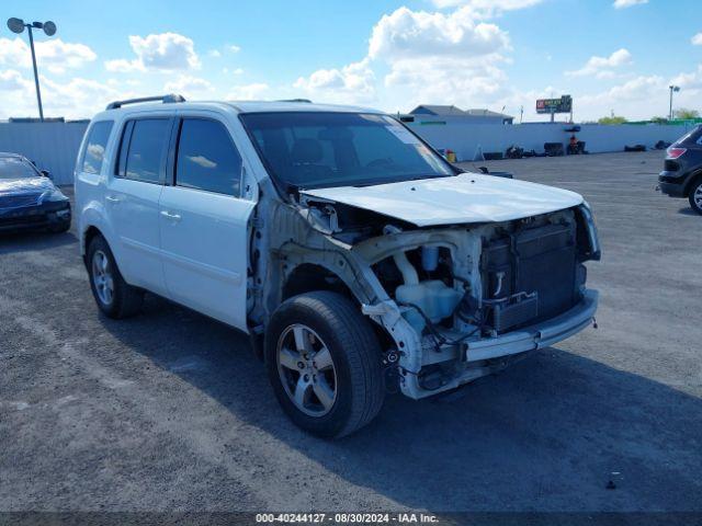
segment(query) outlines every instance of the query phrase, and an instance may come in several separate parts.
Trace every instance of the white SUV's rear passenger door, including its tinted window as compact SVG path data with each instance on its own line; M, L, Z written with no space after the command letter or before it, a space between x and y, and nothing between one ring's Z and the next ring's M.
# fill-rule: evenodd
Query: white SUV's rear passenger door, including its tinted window
M159 253L159 198L173 124L166 115L126 121L115 173L105 191L120 271L131 285L160 295L166 294L166 282Z

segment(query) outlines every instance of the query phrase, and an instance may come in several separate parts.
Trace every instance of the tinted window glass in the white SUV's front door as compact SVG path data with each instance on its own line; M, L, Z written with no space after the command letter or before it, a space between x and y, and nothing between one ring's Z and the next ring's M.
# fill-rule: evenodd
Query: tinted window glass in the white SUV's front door
M184 118L176 162L176 184L239 196L241 156L222 123Z

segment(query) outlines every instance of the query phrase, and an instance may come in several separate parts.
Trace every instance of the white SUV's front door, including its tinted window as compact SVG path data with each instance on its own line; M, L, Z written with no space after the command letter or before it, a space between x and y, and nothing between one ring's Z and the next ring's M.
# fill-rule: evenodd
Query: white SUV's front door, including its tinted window
M242 159L213 114L183 112L174 130L170 184L159 207L168 296L246 330L248 221L240 197Z

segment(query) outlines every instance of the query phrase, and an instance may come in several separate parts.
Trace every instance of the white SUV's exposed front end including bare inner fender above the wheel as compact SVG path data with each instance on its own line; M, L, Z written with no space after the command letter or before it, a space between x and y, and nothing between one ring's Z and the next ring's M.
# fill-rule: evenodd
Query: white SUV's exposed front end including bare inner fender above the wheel
M348 287L377 324L388 381L411 398L499 370L593 321L584 262L599 259L599 245L586 204L423 228L304 195L295 210L305 227L291 231L288 217L272 241L284 254L280 281L298 283L296 268L312 259L331 288Z

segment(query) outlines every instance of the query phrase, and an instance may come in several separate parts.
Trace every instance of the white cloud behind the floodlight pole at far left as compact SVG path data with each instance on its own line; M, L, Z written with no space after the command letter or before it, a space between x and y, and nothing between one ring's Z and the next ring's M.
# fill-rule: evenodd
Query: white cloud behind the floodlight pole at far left
M39 70L64 73L67 69L78 69L98 58L84 44L64 42L60 38L36 42L36 60ZM0 64L21 68L32 67L32 52L21 37L0 38Z

